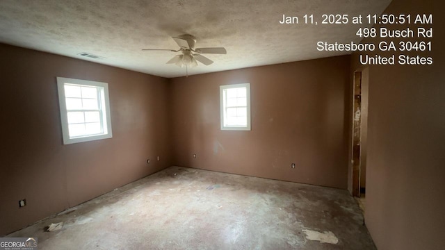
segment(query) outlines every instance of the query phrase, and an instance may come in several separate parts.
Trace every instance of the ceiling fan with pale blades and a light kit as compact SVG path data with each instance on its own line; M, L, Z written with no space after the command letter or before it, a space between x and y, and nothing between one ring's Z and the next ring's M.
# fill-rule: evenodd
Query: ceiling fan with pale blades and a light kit
M181 55L174 56L167 63L175 63L179 67L186 66L188 67L196 67L197 62L200 62L204 65L211 65L213 60L202 56L202 53L213 53L213 54L226 54L227 51L223 47L217 48L195 48L196 38L193 35L178 35L177 37L172 37L173 40L178 44L179 49L143 49L143 51L172 51L179 52L181 51ZM188 75L188 72L187 72Z

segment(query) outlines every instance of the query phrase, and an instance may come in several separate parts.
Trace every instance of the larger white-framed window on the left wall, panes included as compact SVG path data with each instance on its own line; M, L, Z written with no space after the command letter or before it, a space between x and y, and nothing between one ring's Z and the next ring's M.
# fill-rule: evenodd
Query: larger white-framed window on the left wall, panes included
M57 78L63 144L112 138L108 83Z

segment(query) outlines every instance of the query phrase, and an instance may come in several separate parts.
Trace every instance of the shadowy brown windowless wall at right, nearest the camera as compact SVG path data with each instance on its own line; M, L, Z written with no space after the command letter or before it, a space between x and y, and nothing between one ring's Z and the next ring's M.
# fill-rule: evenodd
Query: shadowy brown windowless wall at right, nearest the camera
M379 250L444 249L443 10L432 0L394 0L385 10L433 13L434 65L369 67L365 220Z

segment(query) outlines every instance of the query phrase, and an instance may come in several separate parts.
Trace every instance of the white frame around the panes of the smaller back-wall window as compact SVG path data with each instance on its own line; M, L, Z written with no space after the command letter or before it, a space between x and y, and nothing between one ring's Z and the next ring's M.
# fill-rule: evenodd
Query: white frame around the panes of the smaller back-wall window
M246 110L247 110L247 123L245 126L234 126L225 123L226 117L226 100L225 90L232 88L246 88ZM222 131L250 131L250 83L239 83L231 85L220 85L220 119Z

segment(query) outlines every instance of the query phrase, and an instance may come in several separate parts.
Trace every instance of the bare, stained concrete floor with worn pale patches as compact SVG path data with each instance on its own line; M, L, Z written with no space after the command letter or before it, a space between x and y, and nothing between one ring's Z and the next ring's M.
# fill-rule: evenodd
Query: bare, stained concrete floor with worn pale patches
M346 190L185 167L8 237L38 238L39 249L375 249Z

